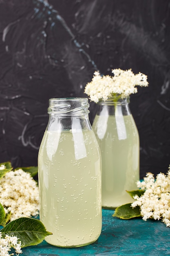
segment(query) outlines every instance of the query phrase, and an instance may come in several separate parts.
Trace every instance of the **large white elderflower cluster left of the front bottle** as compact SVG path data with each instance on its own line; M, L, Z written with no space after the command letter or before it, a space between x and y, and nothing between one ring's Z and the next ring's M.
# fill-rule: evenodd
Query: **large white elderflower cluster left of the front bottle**
M5 166L1 165L0 170ZM38 186L30 173L22 169L9 171L0 179L0 203L10 220L36 216L39 211Z

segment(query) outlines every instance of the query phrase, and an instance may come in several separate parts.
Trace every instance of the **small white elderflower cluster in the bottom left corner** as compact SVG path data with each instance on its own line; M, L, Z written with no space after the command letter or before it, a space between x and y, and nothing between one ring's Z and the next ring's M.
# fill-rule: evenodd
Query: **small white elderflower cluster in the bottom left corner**
M0 255L1 256L11 256L11 248L15 249L17 255L22 253L21 241L18 241L17 236L9 236L6 234L5 238L2 238L2 233L0 232Z

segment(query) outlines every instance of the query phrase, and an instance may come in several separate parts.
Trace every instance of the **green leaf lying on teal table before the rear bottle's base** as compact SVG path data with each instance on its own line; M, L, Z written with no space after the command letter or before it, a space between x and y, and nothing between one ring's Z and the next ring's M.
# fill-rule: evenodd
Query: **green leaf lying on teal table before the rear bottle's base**
M123 220L128 220L135 217L141 217L140 207L131 207L131 203L123 204L115 209L113 217L118 217Z

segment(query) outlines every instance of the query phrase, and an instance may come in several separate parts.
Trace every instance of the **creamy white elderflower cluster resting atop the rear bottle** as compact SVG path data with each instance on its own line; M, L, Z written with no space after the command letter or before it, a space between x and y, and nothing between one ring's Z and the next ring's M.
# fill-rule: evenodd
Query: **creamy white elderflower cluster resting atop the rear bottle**
M94 72L92 81L86 84L84 90L91 101L95 103L100 100L106 101L115 94L126 98L130 94L137 93L135 86L148 86L147 76L140 72L134 74L131 69L121 70L119 68L112 70L112 73L114 76L101 76L99 72Z

